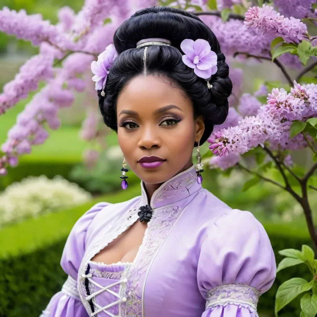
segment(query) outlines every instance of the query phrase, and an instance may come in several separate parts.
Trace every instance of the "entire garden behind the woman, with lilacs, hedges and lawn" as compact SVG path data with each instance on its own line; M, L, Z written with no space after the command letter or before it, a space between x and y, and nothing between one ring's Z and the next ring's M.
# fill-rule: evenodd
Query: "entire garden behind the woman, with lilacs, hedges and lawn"
M259 316L315 317L312 0L0 1L0 316L39 316L67 278L60 259L76 220L97 202L140 195L132 171L121 189L122 153L90 65L120 23L154 5L201 18L230 66L227 120L201 146L203 186L268 233L278 272Z

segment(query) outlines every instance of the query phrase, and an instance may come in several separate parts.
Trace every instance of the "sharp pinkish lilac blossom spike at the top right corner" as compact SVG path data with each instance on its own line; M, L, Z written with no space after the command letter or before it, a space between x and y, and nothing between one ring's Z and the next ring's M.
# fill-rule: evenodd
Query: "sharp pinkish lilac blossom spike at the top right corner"
M307 38L307 26L294 17L285 18L273 7L263 4L262 8L252 7L245 13L244 24L258 29L262 34L281 36L285 42L299 43Z

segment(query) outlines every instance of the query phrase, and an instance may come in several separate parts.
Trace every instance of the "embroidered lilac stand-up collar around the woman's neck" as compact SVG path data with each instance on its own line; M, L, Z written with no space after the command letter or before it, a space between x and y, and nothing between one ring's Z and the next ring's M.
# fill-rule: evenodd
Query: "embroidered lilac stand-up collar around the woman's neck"
M185 171L163 183L154 191L150 204L148 203L144 182L141 181L141 206L149 204L151 208L159 208L189 197L201 188L197 183L195 166L192 165Z

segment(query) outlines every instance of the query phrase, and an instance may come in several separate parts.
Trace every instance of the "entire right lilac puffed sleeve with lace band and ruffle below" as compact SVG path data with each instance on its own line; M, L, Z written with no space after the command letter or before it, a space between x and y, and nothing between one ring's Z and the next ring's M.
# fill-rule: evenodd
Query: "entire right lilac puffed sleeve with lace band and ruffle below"
M201 247L202 317L258 317L258 299L275 275L275 256L262 224L249 211L228 211L209 228Z

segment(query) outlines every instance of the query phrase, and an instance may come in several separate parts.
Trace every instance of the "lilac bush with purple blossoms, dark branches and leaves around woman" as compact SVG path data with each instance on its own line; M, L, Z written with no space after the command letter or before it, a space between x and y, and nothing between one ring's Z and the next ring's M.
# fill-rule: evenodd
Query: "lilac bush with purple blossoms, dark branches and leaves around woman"
M45 142L48 129L59 128L59 109L71 107L76 93L94 91L91 64L94 61L93 67L100 70L106 67L97 63L98 56L109 45L112 47L113 33L125 19L145 7L174 6L191 11L210 26L230 64L233 93L228 117L223 125L215 126L210 135L211 158L205 155L205 159L210 167L226 174L234 168L250 174L245 189L267 181L287 191L303 210L316 252L317 231L308 192L317 191L312 182L317 179L317 36L314 36L317 34L317 4L314 0L263 2L85 0L78 13L69 7L61 8L56 25L43 21L40 15L3 8L0 31L38 46L39 54L26 61L0 94L0 115L3 115L36 91L1 146L0 175L6 175L9 166L16 166L18 157L30 153L32 146ZM246 67L273 63L285 80L263 80L255 92L243 91L243 71L232 66L235 61L245 63ZM291 76L289 68L297 74ZM103 87L104 76L94 80L96 87ZM44 85L38 89L40 83ZM101 140L101 117L91 109L86 112L81 138L90 142ZM309 153L310 166L297 166L292 160L294 151ZM93 160L98 157L96 152L88 154L86 156ZM253 165L250 158L254 158ZM270 178L273 174L270 171L278 171L282 181ZM317 313L314 251L308 246L303 246L301 251L281 251L286 258L278 270L306 263L314 278L310 282L294 278L283 283L276 295L276 315L297 295L309 290L301 298L301 316L313 317Z

